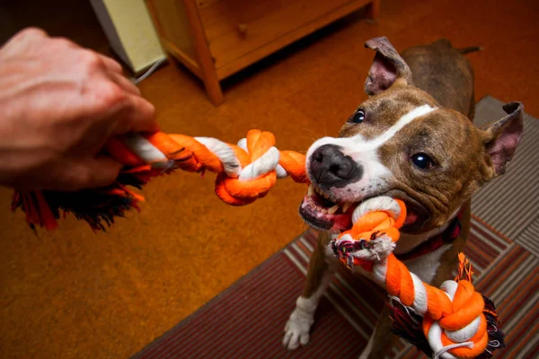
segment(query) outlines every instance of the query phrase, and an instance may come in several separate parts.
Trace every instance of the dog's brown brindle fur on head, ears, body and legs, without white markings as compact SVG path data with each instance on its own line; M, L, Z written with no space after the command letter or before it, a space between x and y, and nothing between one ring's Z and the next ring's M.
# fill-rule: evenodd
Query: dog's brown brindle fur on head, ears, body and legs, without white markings
M470 120L474 108L473 69L463 56L469 49L452 48L446 39L409 48L402 57L385 38L371 39L366 47L377 52L365 83L371 97L359 108L364 111L365 119L361 123L347 122L340 129L340 137L361 135L369 140L382 135L412 109L425 104L437 108L382 144L378 157L394 178L388 185L391 190L380 195L399 197L407 206L420 208L425 216L418 225L403 229L404 232L429 232L447 223L459 208L463 211L462 231L440 259L431 280L432 285L439 286L451 278L457 255L464 250L470 231L473 192L503 173L514 153L516 144L508 149L500 147L495 140L502 128L522 130L522 104L514 102L504 107L508 116L487 130L474 127ZM509 142L519 139L519 136L510 138ZM428 152L436 167L429 171L414 167L410 156L418 152ZM309 265L305 298L317 291L324 274L331 270L326 258L329 243L329 234L322 232ZM396 340L390 333L391 325L385 309L376 323L373 350L368 358L382 359L389 352L390 342Z

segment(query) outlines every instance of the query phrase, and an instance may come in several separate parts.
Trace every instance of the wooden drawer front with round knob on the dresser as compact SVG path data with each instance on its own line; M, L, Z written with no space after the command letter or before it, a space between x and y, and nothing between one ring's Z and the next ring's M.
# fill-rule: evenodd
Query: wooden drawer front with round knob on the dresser
M200 3L202 2L202 3ZM327 16L353 0L199 0L216 68ZM368 1L363 1L367 4ZM327 21L325 23L328 23Z

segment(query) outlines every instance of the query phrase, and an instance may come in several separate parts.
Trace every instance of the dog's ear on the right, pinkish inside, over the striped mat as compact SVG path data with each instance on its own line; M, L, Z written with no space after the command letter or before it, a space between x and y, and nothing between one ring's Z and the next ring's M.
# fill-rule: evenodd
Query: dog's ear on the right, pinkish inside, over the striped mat
M490 156L494 177L506 171L507 163L511 161L517 151L524 127L524 105L522 102L507 103L503 109L508 115L486 127L486 136L483 141L486 152Z

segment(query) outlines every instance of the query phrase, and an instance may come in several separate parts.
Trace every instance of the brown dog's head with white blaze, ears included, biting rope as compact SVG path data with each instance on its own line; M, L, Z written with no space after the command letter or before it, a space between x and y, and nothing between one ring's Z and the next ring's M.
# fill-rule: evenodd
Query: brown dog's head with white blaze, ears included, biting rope
M490 127L477 128L413 86L411 70L385 38L367 41L376 57L365 83L369 95L340 129L307 153L312 186L300 206L305 222L347 230L358 203L386 195L407 206L404 232L446 223L483 183L502 174L520 141L523 105Z

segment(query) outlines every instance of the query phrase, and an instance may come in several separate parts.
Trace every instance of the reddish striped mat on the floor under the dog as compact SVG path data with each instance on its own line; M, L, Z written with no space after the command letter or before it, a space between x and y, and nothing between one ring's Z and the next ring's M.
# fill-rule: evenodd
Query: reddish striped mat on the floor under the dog
M384 293L341 270L317 311L311 343L295 352L281 346L283 328L305 283L314 232L293 241L147 346L135 358L356 358L382 308ZM539 310L538 260L473 218L466 255L475 285L499 307L508 347L498 358L535 358ZM425 357L403 342L395 358Z

